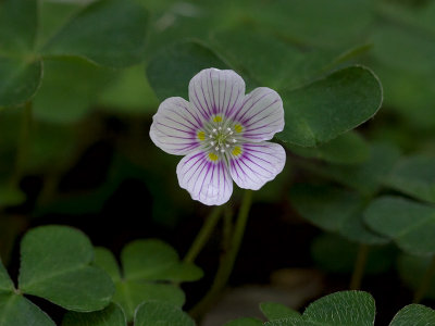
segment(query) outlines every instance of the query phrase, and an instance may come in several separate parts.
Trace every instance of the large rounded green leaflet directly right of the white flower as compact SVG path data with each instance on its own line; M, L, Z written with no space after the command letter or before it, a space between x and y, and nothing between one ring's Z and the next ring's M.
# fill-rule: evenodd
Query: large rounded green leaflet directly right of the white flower
M330 141L371 118L382 103L377 77L363 66L339 70L306 87L281 93L284 142L313 147Z

